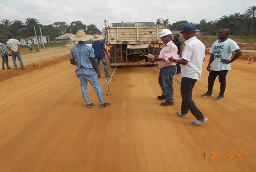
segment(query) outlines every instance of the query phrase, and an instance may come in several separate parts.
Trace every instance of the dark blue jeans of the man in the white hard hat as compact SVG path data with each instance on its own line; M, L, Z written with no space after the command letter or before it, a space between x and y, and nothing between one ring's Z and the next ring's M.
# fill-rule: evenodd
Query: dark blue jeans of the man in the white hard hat
M160 69L158 83L162 89L162 96L166 97L166 100L173 102L173 75L176 72L176 66L168 66Z

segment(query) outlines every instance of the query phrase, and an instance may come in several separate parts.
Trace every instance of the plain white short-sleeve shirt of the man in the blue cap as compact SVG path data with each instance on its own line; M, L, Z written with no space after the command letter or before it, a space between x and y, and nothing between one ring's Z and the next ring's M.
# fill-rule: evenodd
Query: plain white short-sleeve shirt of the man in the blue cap
M182 77L198 80L202 74L202 65L205 58L205 45L196 37L191 37L185 41L182 51L182 59L188 61L181 66Z

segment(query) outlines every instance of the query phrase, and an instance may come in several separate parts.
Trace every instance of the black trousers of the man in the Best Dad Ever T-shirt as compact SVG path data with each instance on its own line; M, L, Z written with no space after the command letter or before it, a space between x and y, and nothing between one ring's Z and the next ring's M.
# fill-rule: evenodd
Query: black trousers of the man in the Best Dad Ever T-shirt
M222 70L222 71L210 71L210 74L208 76L208 91L207 93L212 94L212 89L214 85L214 81L216 77L218 76L218 81L220 83L220 96L224 96L225 88L226 88L226 76L228 74L228 70Z

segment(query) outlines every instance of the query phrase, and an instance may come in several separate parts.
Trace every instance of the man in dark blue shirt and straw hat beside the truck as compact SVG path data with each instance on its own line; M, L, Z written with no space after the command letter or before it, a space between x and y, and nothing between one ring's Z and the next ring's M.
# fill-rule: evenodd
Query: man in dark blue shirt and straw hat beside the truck
M108 63L107 63L105 54L107 55L108 59L109 59L109 55L108 55L108 51L105 47L105 42L102 41L102 39L103 39L103 36L97 35L97 34L95 34L91 38L91 40L94 41L92 43L92 48L94 49L94 55L95 55L95 58L97 61L97 66L98 66L98 71L99 71L98 78L101 77L100 61L102 61L103 65L104 65L105 77L110 77L108 74Z

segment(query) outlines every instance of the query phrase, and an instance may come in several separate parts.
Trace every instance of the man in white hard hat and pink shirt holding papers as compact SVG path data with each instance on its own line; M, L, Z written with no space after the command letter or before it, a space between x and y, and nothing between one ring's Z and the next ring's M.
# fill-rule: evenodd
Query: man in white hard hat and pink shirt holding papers
M157 96L157 98L166 99L165 102L161 103L161 106L172 106L174 104L172 80L176 73L176 63L170 62L167 59L168 57L165 57L166 53L178 52L177 46L171 41L171 35L169 29L162 30L161 39L164 42L164 47L161 49L159 57L151 61L152 63L157 61L160 68L158 83L162 89L162 95ZM163 59L166 59L166 61L163 61Z

